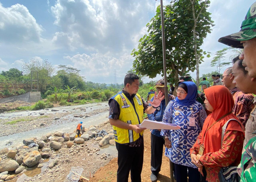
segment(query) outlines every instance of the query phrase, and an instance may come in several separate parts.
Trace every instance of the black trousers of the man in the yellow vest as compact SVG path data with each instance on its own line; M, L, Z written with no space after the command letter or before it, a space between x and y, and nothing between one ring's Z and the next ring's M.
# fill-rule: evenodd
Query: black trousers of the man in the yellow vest
M144 141L139 147L129 147L116 142L118 151L117 182L128 182L131 171L131 181L141 182L140 174L143 166Z

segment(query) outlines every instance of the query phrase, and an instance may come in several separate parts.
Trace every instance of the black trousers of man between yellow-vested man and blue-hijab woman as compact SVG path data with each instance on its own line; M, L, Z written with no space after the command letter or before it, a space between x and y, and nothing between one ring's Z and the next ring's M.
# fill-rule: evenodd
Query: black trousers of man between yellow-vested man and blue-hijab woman
M157 175L161 170L164 144L165 140L163 137L151 134L151 172L154 175Z

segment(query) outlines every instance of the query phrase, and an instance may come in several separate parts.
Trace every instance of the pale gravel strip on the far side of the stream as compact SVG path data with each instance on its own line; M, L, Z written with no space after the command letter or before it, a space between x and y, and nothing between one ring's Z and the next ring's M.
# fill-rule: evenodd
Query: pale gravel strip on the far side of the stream
M105 107L90 111L90 107L86 107L76 106L70 110L50 108L40 111L26 111L26 114L22 113L20 115L10 116L8 118L5 117L4 119L0 120L0 137L23 131L29 131L35 128L40 129L53 124L73 122L77 121L76 118L87 118L89 116L109 110L108 107ZM2 113L0 118L1 116L4 117L5 114Z

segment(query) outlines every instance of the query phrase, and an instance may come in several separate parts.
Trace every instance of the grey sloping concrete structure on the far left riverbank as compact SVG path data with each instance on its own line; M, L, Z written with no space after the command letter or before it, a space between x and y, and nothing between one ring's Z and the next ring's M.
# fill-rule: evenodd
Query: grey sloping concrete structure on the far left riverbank
M42 100L41 92L27 92L26 94L12 96L0 99L0 103L4 102L14 102L16 100L22 100L25 102L37 102L38 100Z

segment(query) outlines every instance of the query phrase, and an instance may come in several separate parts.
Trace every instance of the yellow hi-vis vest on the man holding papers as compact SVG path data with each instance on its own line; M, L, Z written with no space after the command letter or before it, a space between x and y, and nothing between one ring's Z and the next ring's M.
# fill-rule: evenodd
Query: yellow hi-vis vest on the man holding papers
M139 94L136 94L133 97L135 107L133 107L132 103L123 94L123 92L114 96L113 99L116 100L120 106L119 120L128 124L140 124L143 121L144 107ZM114 139L117 143L131 143L136 141L140 135L143 135L143 131L138 134L133 130L118 128L116 126L113 126L113 130Z

